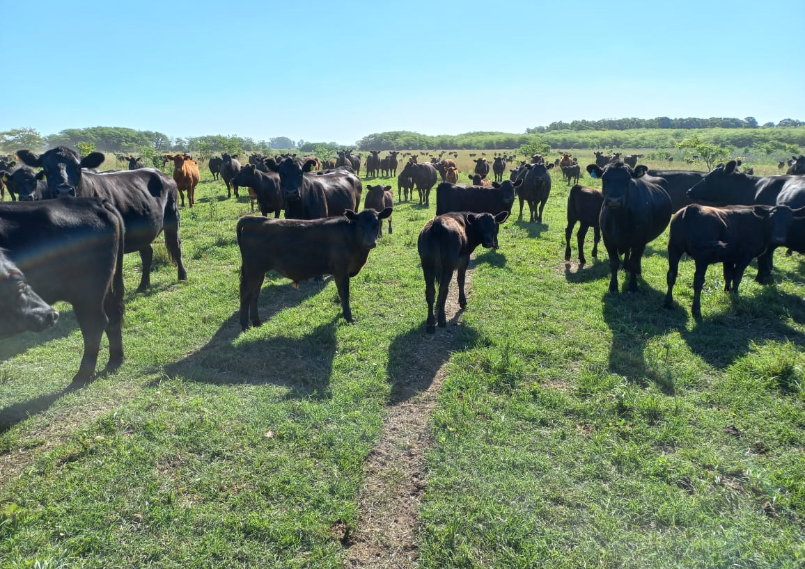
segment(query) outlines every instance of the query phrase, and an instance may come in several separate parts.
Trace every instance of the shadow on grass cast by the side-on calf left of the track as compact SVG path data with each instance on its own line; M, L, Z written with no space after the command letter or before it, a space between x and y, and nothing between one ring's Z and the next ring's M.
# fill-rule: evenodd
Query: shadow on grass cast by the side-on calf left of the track
M299 291L290 284L264 285L258 302L262 321L270 321L281 310L299 305L321 289L321 285L311 280L300 283ZM165 366L165 374L220 385L271 383L287 387L288 398L325 399L341 318L341 310L334 308L332 320L308 334L291 337L279 333L265 338L241 333L238 310L221 324L204 347Z

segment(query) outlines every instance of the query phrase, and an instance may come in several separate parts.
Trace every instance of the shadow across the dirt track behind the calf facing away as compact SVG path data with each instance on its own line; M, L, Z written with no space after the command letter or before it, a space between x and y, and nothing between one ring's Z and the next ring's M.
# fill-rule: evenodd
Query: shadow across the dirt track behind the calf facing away
M448 320L446 328L436 328L436 334L426 334L423 321L391 341L387 367L391 383L389 405L403 403L427 391L453 352L466 350L477 343L477 330L465 324L459 325L463 313L464 309L459 309Z

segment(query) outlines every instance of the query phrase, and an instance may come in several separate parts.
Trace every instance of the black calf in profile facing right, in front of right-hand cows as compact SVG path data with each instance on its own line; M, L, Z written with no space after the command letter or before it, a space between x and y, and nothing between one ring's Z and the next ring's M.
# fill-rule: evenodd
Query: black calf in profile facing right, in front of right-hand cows
M772 244L786 243L794 213L787 206L708 207L693 203L677 211L668 235L668 291L665 306L674 304L679 260L696 260L691 313L701 318L701 292L711 264L724 267L724 290L737 295L744 271Z

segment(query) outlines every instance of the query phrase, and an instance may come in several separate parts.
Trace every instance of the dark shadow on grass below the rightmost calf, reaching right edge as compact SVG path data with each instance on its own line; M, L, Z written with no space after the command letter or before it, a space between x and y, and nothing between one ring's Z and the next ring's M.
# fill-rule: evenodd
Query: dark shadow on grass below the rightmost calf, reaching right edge
M690 330L679 326L679 334L691 352L709 365L725 369L753 350L758 342L794 342L805 347L805 334L787 321L805 323L805 301L774 287L764 287L753 297L730 297L731 306L721 313L696 321ZM690 306L679 306L691 317ZM692 318L692 317L691 317Z

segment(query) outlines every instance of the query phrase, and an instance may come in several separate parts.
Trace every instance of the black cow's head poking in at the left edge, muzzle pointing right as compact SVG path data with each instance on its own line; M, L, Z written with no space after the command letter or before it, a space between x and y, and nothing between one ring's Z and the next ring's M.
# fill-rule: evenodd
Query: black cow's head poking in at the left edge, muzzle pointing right
M31 289L23 272L0 249L0 336L41 332L58 319L59 313Z

